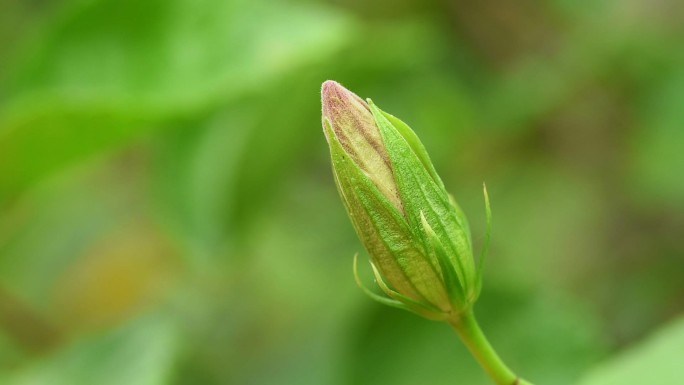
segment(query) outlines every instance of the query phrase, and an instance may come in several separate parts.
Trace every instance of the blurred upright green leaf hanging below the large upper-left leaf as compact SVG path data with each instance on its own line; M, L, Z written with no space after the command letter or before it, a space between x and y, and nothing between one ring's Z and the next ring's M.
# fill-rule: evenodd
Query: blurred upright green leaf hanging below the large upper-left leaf
M214 269L230 241L230 203L240 159L257 121L239 104L179 125L154 144L152 195L156 214L194 268Z

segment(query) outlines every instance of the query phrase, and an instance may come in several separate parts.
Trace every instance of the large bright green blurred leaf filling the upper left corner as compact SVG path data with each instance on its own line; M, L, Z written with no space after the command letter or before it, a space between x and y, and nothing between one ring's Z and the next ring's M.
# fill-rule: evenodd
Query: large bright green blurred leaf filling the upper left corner
M277 2L76 2L27 49L0 111L0 198L165 119L336 52L350 20Z

